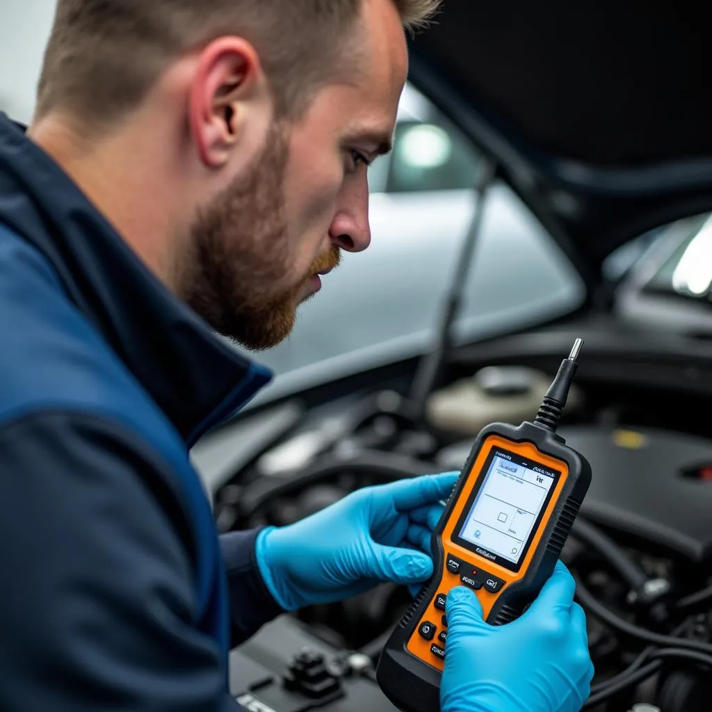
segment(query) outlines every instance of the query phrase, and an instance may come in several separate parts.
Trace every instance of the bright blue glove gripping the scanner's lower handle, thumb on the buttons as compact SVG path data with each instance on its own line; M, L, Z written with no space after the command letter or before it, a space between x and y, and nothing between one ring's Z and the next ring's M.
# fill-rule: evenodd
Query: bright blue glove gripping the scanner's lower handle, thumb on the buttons
M593 664L575 581L556 569L522 617L503 626L482 619L465 587L449 592L442 712L579 712Z

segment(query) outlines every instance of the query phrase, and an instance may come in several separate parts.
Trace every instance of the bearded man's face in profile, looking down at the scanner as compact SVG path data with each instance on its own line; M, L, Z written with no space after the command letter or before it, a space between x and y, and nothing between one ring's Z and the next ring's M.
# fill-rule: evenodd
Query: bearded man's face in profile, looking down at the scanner
M370 244L367 162L392 136L407 48L390 1L366 0L365 20L369 46L350 80L320 90L295 124L273 122L256 159L194 221L187 300L248 348L285 339L320 274Z

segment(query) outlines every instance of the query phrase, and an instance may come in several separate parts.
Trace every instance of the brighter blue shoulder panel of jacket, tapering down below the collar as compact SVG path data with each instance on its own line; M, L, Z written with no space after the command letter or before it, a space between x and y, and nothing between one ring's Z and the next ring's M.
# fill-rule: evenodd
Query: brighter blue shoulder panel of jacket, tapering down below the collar
M0 434L22 422L53 422L47 416L58 415L72 422L91 419L95 431L105 432L118 466L122 456L113 444L116 433L122 433L124 452L149 449L155 466L152 471L144 468L141 475L147 481L159 476L175 497L174 513L180 511L179 518L189 522L190 548L206 569L199 575L199 595L205 598L210 583L207 569L217 542L209 499L190 464L187 446L98 329L64 293L43 255L2 226L0 334ZM68 430L75 438L86 432L86 427ZM78 440L67 446L82 444Z

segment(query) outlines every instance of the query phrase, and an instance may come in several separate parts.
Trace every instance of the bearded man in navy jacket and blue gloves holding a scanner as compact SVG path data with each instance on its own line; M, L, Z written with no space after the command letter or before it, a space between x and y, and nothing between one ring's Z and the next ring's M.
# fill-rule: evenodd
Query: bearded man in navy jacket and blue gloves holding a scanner
M214 332L278 343L367 248L404 28L437 4L59 0L32 125L0 120L2 710L236 710L261 624L431 575L454 475L219 540L188 451L270 377ZM494 629L453 592L442 708L579 709L572 597L560 567Z

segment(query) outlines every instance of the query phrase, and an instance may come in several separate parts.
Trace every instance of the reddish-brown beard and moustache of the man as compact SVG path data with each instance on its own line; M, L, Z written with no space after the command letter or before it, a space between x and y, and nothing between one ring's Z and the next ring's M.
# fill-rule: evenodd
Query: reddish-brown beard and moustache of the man
M179 293L189 307L251 350L286 339L311 276L340 261L333 246L296 285L283 286L293 262L284 198L288 155L288 131L273 125L248 171L198 212L181 271Z

